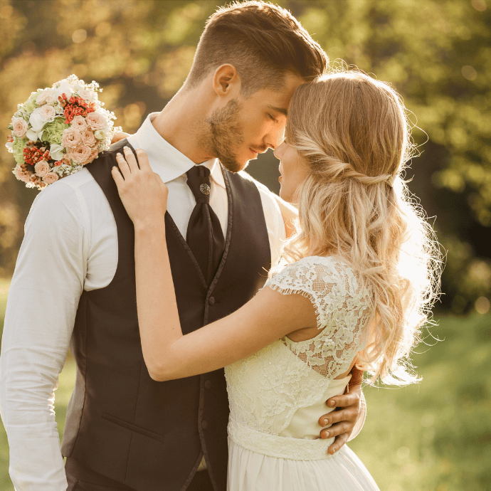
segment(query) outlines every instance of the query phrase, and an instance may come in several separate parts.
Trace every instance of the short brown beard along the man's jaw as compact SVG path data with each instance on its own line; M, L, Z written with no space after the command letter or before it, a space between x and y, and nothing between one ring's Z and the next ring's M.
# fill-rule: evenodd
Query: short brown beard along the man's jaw
M247 167L248 162L238 162L233 148L240 147L244 142L238 114L241 105L237 99L227 102L225 107L217 109L206 118L208 131L202 137L202 144L209 149L228 171L238 172Z

